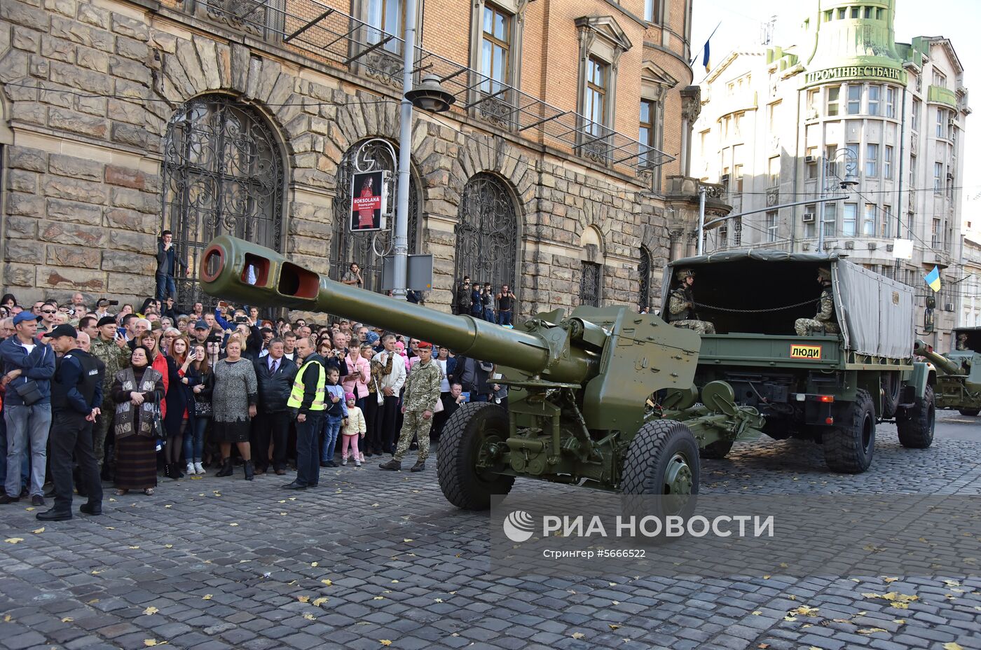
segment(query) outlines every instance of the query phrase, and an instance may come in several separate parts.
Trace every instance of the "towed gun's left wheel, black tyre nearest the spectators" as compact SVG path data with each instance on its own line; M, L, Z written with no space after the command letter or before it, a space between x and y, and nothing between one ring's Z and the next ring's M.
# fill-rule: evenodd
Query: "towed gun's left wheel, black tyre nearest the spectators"
M477 461L510 431L507 412L490 402L463 404L443 425L437 475L446 500L464 510L487 510L490 495L507 494L514 476L477 470ZM501 465L503 467L503 464Z

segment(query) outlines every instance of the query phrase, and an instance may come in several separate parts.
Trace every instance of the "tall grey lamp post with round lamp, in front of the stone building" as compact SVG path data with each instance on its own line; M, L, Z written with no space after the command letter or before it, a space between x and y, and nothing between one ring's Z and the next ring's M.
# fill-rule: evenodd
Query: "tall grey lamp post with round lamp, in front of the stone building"
M402 43L402 105L398 133L398 198L395 204L395 241L393 246L391 295L404 298L407 283L406 267L409 259L409 167L412 161L412 107L441 113L449 110L454 98L439 85L439 77L427 76L419 88L413 90L412 75L415 72L416 5L418 0L405 3L405 40Z

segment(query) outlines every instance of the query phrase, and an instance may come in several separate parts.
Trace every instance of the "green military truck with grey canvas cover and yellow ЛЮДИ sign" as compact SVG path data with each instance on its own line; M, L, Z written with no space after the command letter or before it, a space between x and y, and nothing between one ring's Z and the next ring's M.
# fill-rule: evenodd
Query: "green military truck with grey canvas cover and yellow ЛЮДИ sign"
M820 267L831 270L841 333L799 336L795 321L817 311ZM683 268L696 272L699 318L716 331L701 336L697 387L731 385L739 406L765 418L764 433L813 440L837 472L868 469L879 423L895 422L905 447L930 446L937 379L913 358L911 287L839 255L724 252L667 267L662 315L674 286L668 278ZM681 408L692 398L665 399ZM722 458L734 441L723 437L701 455Z

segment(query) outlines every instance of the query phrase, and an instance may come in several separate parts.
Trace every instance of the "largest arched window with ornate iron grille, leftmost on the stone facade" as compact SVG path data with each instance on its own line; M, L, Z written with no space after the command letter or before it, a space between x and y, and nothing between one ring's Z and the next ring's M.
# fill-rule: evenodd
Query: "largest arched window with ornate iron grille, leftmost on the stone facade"
M178 304L206 305L198 260L230 234L283 250L284 163L276 136L254 109L223 95L196 97L171 118L164 140L164 225L187 265L175 275Z

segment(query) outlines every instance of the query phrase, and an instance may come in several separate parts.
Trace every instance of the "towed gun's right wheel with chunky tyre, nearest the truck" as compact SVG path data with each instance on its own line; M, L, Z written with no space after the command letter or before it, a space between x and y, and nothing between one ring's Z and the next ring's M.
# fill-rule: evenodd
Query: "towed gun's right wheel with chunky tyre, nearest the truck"
M695 509L698 493L698 444L692 430L674 420L657 420L641 426L623 464L620 490L625 495L663 496L656 513L653 503L629 500L631 512L654 516L674 515Z

